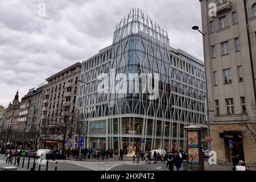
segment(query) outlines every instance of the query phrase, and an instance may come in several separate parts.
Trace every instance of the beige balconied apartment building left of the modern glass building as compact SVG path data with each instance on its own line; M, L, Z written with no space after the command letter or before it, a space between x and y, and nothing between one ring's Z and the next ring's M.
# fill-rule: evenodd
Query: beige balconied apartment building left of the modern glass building
M75 63L68 68L46 79L47 85L43 87L42 104L40 107L39 127L43 127L47 120L46 147L60 147L63 141L60 135L56 135L53 124L60 119L63 111L76 112L76 98L79 94L81 77L81 63ZM44 141L43 141L44 142ZM43 147L43 142L40 147ZM74 139L68 141L72 147L77 143Z

